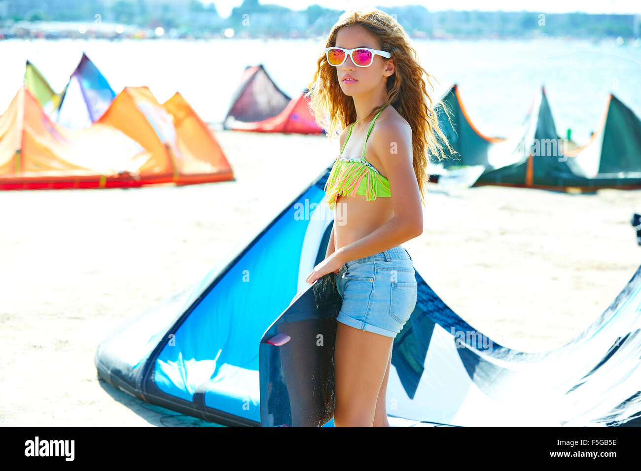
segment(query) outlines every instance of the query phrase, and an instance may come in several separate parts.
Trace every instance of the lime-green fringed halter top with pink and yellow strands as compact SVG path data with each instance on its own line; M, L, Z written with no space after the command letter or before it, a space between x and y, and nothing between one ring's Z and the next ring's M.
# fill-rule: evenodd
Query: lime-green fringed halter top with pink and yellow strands
M349 133L347 134L347 138L345 138L343 148L340 150L340 155L334 161L334 165L331 167L331 172L329 172L329 177L325 183L324 190L327 197L327 205L330 210L335 208L338 195L349 195L352 197L355 195L365 195L367 201L372 201L377 197L392 196L388 179L382 176L381 172L379 172L374 165L365 160L365 144L367 144L367 138L372 131L374 121L376 121L378 115L385 110L385 106L376 113L376 116L372 119L372 124L369 125L367 136L365 136L365 143L363 144L362 158L360 159L347 159L342 156L345 150L345 144L347 144L347 139L349 139L354 124L356 124L358 120L349 126Z

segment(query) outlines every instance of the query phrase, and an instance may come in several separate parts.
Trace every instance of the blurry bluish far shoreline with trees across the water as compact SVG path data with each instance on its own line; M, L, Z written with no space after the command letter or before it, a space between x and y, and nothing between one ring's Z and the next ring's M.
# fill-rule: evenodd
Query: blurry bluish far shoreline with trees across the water
M0 3L0 40L3 38L246 38L315 39L326 37L343 10L319 5L290 10L273 4L243 4L223 18L215 5L175 3L163 9L134 2L123 10L88 1L81 8L33 10L30 2L4 6ZM143 2L145 3L145 2ZM421 5L384 9L393 15L412 39L533 39L571 37L621 38L637 42L641 37L638 13L483 12L478 10L429 11Z

